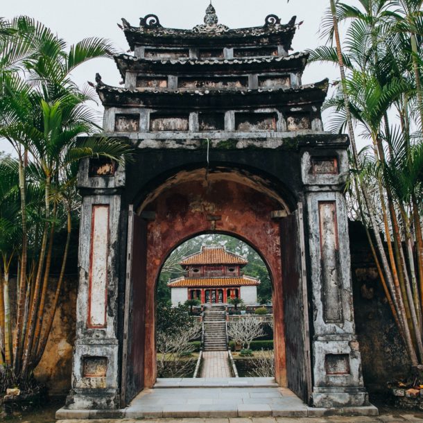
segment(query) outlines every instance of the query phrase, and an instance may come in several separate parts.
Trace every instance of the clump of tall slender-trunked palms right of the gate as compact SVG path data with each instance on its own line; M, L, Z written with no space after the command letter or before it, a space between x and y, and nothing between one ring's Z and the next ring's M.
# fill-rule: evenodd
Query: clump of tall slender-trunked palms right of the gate
M370 221L377 250L373 248L370 232L368 237L379 275L383 283L386 281L384 289L388 302L399 331L406 340L411 362L417 365L423 358L423 269L420 254L422 231L417 212L421 184L416 183L416 175L420 173L419 166L422 166L422 162L421 148L410 143L408 109L413 106L413 101L421 105L420 74L415 71L418 51L414 49L415 45L411 48L409 45L413 44L413 37L417 40L422 37L422 2L360 0L360 3L363 11L345 3L330 1L330 14L324 21L325 35L329 35L330 39L335 37L336 49L320 47L313 52L311 60L335 62L340 68L341 84L326 107L336 110L332 129L341 130L347 126L349 130L352 141L353 185L356 187L355 195L362 220L364 223ZM343 51L338 21L345 19L351 19L352 24L348 28ZM408 34L411 42L404 37L404 33ZM388 123L388 110L392 107L396 107L402 117L399 131L397 128L392 130ZM370 167L362 166L357 153L354 125L364 128L365 134L372 139L374 163ZM379 235L377 215L368 190L369 178L374 180L379 191L377 202L381 205L381 223L388 241L389 259ZM361 198L365 207L361 205ZM408 211L411 211L411 216ZM399 223L402 223L403 231ZM414 238L412 223L415 227ZM405 251L403 240L406 243ZM414 243L419 252L417 266L413 255ZM415 268L420 275L420 294Z

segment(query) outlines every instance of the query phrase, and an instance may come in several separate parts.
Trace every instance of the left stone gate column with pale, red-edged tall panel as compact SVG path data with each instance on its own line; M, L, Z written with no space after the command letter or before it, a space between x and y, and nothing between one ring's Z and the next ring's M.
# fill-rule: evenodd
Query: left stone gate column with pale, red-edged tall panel
M72 389L67 408L119 408L117 295L121 189L125 172L101 160L80 164L83 196Z

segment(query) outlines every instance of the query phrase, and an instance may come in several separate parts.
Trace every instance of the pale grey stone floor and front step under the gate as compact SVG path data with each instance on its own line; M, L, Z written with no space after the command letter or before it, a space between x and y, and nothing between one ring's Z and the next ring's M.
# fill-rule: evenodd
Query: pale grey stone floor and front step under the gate
M167 388L142 391L127 408L119 411L72 411L63 408L58 419L130 417L329 417L330 415L377 415L377 408L310 408L287 388L228 387L203 389ZM364 417L360 417L364 418ZM122 421L122 420L121 420ZM292 420L293 421L293 420ZM360 420L357 420L360 421ZM364 420L362 420L364 422ZM381 420L375 420L381 421ZM412 421L412 420L404 420ZM347 422L347 420L345 420ZM399 420L401 422L401 420ZM277 423L277 422L274 422Z

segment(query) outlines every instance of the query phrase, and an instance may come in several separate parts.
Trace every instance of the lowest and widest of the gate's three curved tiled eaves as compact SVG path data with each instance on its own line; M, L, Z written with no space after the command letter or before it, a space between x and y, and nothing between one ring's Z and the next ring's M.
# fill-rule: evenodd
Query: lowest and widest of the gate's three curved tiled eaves
M128 94L189 94L189 95L210 95L210 94L262 94L262 93L279 93L279 92L302 92L313 89L322 89L327 91L329 89L329 78L325 78L317 83L299 85L297 87L279 87L279 88L264 88L250 89L250 88L239 88L239 89L206 89L200 91L199 89L155 89L155 88L123 88L123 87L112 87L112 85L106 85L104 83L98 83L96 86L97 92L109 91L119 92Z

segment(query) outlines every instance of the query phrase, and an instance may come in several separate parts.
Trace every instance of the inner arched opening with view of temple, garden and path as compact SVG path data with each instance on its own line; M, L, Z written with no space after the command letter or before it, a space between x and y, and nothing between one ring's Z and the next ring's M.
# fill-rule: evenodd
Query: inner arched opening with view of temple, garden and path
M272 291L268 266L239 238L213 232L178 245L157 280L157 377L273 377Z

